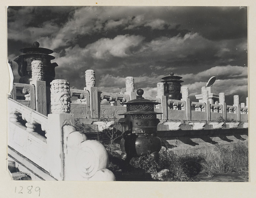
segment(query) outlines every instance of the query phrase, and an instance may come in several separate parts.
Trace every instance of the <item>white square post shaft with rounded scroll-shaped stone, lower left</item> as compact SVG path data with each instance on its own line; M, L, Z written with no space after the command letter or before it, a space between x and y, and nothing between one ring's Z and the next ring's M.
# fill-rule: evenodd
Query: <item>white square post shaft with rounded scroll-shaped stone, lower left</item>
M47 133L48 169L52 177L64 181L114 181L106 169L108 152L95 140L76 131L74 114L49 114Z

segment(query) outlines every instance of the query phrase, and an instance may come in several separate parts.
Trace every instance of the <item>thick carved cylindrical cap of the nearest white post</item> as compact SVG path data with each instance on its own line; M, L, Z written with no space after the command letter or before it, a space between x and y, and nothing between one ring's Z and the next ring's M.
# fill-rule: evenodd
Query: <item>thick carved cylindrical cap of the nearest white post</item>
M70 83L67 80L52 80L51 112L55 114L70 113Z

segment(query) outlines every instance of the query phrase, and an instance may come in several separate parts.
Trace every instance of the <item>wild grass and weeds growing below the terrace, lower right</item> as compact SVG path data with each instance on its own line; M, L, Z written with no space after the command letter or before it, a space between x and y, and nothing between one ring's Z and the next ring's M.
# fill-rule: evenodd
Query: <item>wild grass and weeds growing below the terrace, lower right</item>
M118 156L116 152L116 156ZM123 164L124 165L124 164ZM126 166L111 162L111 170L124 172ZM148 156L133 158L129 164L131 169L140 169L157 181L157 172L168 169L164 181L193 181L193 176L205 172L209 177L216 174L239 172L242 178L248 179L248 147L246 142L239 142L233 148L215 145L205 150L173 152L162 147L160 160L152 162Z

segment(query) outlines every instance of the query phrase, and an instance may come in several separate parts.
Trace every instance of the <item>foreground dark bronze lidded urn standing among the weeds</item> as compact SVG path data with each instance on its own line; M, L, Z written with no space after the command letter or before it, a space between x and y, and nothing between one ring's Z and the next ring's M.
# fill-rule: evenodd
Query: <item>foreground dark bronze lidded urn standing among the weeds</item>
M161 113L154 112L154 105L159 103L143 98L143 93L143 89L138 89L137 99L122 103L127 108L127 112L120 114L125 118L118 121L122 125L120 148L124 160L143 155L149 155L154 161L159 159L162 145L157 137L157 124L160 122L157 114Z

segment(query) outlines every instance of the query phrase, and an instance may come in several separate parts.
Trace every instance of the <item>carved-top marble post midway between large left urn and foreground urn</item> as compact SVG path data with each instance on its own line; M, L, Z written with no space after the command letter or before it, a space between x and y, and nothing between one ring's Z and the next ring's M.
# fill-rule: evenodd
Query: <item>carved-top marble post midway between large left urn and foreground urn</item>
M91 118L99 118L98 88L95 87L95 72L93 69L85 71L85 84L84 90L90 93L90 116Z

